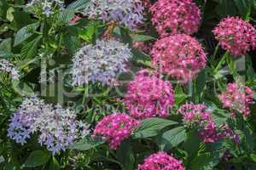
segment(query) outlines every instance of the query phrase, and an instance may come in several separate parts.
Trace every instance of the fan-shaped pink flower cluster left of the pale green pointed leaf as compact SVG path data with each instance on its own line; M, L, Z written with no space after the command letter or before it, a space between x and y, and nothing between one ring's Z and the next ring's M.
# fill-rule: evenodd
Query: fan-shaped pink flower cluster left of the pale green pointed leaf
M93 136L100 136L109 142L110 149L116 150L124 139L139 127L139 122L124 113L105 116L96 124Z

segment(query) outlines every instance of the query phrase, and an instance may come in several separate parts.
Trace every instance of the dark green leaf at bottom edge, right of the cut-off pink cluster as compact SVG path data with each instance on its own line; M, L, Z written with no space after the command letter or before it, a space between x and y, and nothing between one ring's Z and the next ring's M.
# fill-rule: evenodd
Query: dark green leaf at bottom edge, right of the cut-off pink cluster
M206 170L215 167L220 158L224 155L224 150L216 150L196 156L190 163L190 170Z

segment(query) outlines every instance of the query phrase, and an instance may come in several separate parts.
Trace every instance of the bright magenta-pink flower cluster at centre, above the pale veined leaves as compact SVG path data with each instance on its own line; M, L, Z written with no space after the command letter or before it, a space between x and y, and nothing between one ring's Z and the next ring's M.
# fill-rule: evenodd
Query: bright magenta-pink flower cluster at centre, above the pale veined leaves
M125 106L132 117L166 117L173 105L171 82L161 80L155 72L139 71L134 81L128 84Z

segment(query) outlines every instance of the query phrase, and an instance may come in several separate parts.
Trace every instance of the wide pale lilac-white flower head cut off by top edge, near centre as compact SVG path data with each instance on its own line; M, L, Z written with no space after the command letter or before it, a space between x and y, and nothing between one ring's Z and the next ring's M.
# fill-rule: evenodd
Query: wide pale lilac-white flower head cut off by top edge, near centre
M141 0L90 0L84 15L105 22L114 21L135 29L143 23L144 6Z

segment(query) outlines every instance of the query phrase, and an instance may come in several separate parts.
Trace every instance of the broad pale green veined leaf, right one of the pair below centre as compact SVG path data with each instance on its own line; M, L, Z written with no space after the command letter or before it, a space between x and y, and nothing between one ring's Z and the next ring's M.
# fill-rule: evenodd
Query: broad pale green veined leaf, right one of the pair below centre
M166 139L168 144L171 144L171 147L176 147L178 144L187 139L186 130L184 127L172 128L171 130L163 133L163 139Z

